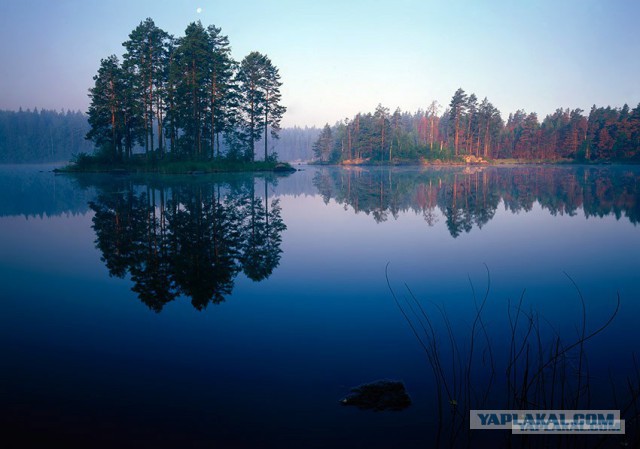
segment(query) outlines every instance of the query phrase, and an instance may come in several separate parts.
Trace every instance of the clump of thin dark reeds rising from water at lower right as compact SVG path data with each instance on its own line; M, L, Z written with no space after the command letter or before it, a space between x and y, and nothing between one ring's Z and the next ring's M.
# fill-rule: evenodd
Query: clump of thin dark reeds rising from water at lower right
M485 265L486 267L486 265ZM416 298L411 289L405 284L407 295L404 301L391 287L388 273L389 264L385 268L387 286L405 321L412 330L424 350L431 371L435 379L437 398L437 434L436 447L469 447L472 433L469 429L469 412L474 409L507 410L588 410L592 406L594 385L589 368L589 359L585 350L585 343L607 329L620 310L620 295L616 295L616 306L611 315L595 330L587 331L587 307L584 296L576 282L565 273L575 291L581 306L581 321L577 329L578 335L574 341L565 343L560 333L551 329L551 341L545 342L545 329L541 328L540 316L533 309L523 307L525 291L512 307L508 302L508 340L505 346L504 384L503 391L492 394L497 383L497 361L494 343L492 342L483 311L489 298L491 276L487 268L487 288L478 302L473 282L469 279L474 304L474 315L471 324L468 347L463 353L458 344L459 335L445 311L444 306L432 304L440 314L442 325L446 329L448 345L443 350L438 338L437 324L433 316ZM546 321L546 320L545 320ZM480 339L480 340L478 340ZM505 348L506 349L506 348ZM445 354L451 358L450 364L444 364ZM626 420L626 436L617 443L633 447L640 447L637 439L640 427L640 368L633 355L634 377L626 378L628 401L620 403L613 376L610 374L610 384L613 392L613 406L620 410L621 418ZM473 382L476 372L483 374L482 385ZM488 376L488 377L487 377ZM446 401L446 402L445 402ZM449 412L445 413L448 404ZM604 407L596 407L603 409ZM609 407L610 408L610 407ZM445 434L446 431L446 434ZM446 436L445 436L446 435ZM536 438L539 437L539 438ZM522 436L519 440L523 447L606 447L612 444L611 435L592 435L589 440L581 439L580 435L537 435ZM515 440L514 440L515 441ZM509 439L509 445L512 440Z

